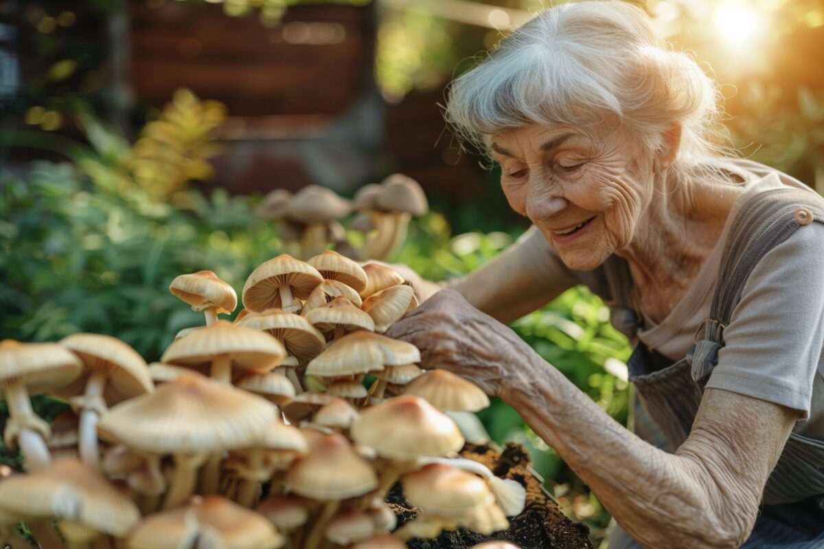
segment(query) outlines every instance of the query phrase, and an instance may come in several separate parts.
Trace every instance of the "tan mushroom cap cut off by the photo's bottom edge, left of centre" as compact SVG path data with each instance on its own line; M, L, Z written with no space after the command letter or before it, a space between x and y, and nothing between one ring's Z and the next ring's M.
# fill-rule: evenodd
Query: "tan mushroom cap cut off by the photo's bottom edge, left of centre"
M277 549L285 538L260 514L219 495L152 514L129 536L129 549Z

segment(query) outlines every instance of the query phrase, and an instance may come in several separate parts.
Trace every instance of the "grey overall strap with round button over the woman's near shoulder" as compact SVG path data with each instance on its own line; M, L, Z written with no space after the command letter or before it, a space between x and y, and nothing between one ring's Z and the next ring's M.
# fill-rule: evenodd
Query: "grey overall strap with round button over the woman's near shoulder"
M701 323L696 333L697 342L690 356L695 381L705 381L718 365L718 353L724 345L723 329L732 319L758 262L770 249L812 221L824 222L824 201L799 188L765 191L743 204L724 246L709 319Z

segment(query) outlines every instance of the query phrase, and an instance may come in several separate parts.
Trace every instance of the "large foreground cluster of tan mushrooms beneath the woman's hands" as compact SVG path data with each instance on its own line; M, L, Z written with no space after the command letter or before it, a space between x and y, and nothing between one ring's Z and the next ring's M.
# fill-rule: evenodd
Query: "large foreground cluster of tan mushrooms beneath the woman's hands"
M213 272L171 291L206 323L162 362L92 333L0 342L5 442L26 464L2 471L7 547L26 546L22 522L43 549L393 549L444 528L493 533L522 511L519 483L456 454L464 436L445 412L486 395L382 335L416 304L398 272L283 254L250 274L233 323L218 314L235 291ZM49 426L33 393L73 412ZM419 509L400 528L386 504L398 481Z

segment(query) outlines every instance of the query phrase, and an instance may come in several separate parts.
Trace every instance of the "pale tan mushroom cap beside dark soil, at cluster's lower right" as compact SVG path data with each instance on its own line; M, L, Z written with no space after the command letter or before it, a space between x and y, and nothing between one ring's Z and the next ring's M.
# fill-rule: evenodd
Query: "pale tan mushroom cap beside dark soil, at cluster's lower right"
M463 516L491 495L481 477L442 463L410 472L400 482L410 504L441 517Z

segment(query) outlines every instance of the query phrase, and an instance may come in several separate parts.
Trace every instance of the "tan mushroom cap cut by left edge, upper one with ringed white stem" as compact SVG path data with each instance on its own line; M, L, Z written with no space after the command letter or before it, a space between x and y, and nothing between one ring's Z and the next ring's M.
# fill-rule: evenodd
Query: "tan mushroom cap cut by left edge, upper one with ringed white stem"
M0 394L7 379L21 378L29 393L45 393L76 379L82 372L79 358L58 343L0 342Z

